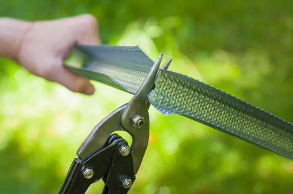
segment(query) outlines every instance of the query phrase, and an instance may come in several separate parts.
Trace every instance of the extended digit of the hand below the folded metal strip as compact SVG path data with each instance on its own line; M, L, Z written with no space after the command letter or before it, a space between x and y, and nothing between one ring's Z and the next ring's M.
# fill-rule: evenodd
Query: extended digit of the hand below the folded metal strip
M61 66L50 79L62 84L72 92L79 92L85 95L92 95L95 93L95 88L90 83L89 79L74 74L65 66Z

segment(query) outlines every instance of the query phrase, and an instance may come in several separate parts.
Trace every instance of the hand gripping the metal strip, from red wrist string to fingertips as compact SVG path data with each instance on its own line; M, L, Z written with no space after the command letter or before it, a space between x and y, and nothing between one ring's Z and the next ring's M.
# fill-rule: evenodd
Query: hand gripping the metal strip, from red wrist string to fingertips
M89 79L69 71L63 60L75 44L99 43L98 24L92 15L38 21L23 39L17 60L32 74L60 83L73 92L92 95L95 88Z

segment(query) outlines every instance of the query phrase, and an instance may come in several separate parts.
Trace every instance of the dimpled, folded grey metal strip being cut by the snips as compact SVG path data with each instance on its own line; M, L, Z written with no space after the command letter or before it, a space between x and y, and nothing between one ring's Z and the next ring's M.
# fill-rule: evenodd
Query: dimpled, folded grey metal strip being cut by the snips
M153 61L137 46L76 46L76 73L134 94ZM293 124L185 75L159 70L149 102L164 115L180 114L293 159Z

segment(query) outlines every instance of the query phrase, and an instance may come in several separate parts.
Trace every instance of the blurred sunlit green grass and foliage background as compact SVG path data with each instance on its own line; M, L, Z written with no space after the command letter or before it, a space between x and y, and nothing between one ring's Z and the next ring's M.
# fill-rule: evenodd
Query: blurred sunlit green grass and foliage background
M0 0L0 17L91 13L104 44L139 45L171 71L293 122L292 0ZM57 193L92 128L131 95L74 94L0 58L0 193ZM103 91L103 93L101 92ZM288 194L293 162L183 116L150 109L149 146L130 194ZM129 139L129 137L127 137ZM100 181L87 194L101 193Z

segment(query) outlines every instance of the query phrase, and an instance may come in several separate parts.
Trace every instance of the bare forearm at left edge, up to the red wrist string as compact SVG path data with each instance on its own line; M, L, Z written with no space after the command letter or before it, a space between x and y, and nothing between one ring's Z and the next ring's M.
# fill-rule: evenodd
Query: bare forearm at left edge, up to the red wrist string
M0 56L14 58L18 43L29 22L0 18Z

